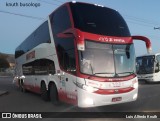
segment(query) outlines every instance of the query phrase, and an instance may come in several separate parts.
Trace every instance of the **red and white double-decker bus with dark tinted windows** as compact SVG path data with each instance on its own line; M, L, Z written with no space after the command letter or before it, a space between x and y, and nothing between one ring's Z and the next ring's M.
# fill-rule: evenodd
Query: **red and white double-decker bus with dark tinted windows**
M19 88L42 99L94 107L134 101L138 95L133 39L115 10L67 2L15 51Z

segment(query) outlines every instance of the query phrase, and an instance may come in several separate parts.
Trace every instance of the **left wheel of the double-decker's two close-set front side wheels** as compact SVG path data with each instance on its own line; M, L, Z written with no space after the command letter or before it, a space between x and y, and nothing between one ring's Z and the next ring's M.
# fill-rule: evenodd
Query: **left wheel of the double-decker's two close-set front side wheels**
M42 82L42 83L41 83L41 98L42 98L44 101L48 101L48 100L49 100L48 91L47 91L45 82Z

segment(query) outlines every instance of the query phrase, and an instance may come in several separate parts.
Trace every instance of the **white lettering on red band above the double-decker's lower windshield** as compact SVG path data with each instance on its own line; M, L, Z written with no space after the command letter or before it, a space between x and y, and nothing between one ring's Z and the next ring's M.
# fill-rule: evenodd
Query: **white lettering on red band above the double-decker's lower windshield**
M103 42L112 42L112 43L125 43L124 39L120 38L111 38L111 37L99 37L99 41Z

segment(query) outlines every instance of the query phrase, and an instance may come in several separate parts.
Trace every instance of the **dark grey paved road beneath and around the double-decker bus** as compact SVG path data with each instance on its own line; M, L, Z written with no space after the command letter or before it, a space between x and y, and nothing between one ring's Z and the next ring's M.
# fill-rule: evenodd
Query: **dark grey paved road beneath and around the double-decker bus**
M79 109L72 105L60 104L54 106L50 102L41 100L40 96L31 92L22 93L12 84L12 78L0 78L0 91L7 90L9 93L0 96L0 112L159 112L160 113L160 84L145 84L139 86L138 100L131 103L103 106L89 109ZM42 119L51 121L52 119ZM59 120L54 119L54 121ZM66 121L65 119L61 119ZM99 121L110 119L68 119L71 121ZM129 119L112 119L112 121L127 121ZM143 119L132 119L143 120ZM147 120L147 119L145 119ZM148 121L151 119L148 119ZM156 119L158 121L158 119ZM160 119L159 119L160 120Z

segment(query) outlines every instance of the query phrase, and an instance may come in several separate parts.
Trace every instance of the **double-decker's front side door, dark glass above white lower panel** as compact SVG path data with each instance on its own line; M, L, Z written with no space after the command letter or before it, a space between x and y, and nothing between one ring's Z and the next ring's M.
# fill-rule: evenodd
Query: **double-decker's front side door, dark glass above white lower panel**
M60 65L63 71L60 74L60 85L62 90L65 92L66 102L73 103L76 99L76 57L74 49L74 38L65 38L65 44L63 46L65 49L61 52Z

